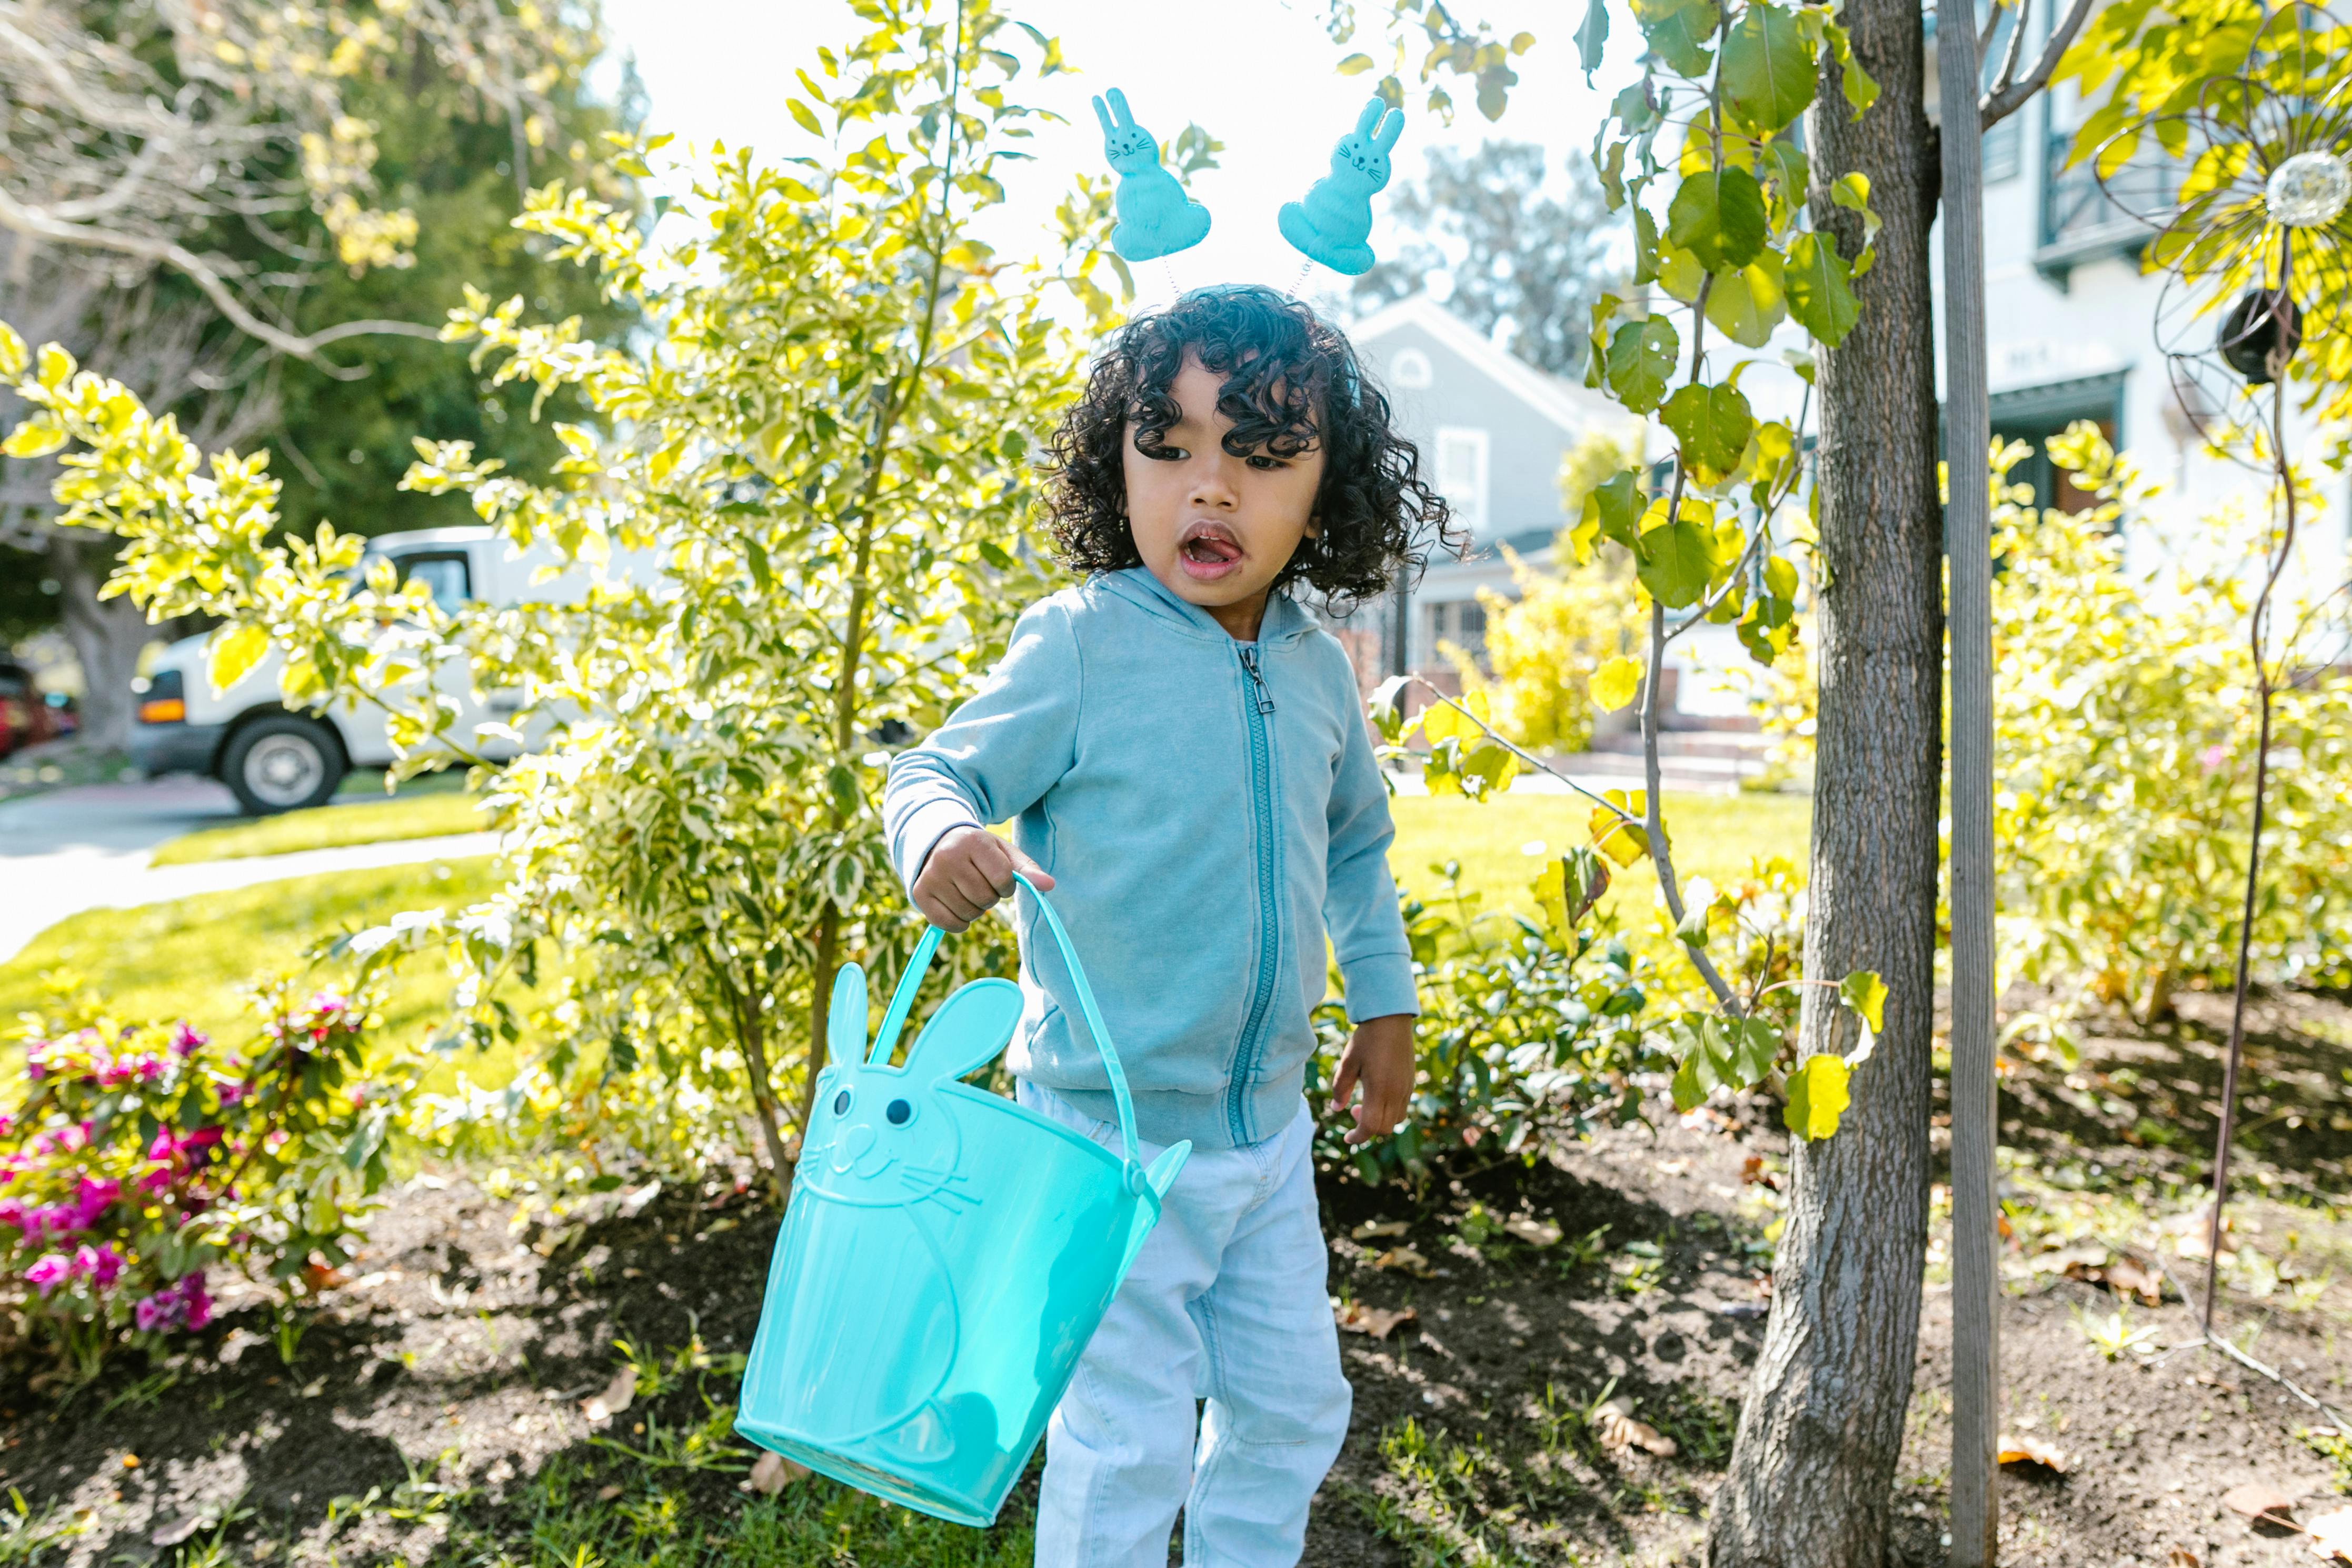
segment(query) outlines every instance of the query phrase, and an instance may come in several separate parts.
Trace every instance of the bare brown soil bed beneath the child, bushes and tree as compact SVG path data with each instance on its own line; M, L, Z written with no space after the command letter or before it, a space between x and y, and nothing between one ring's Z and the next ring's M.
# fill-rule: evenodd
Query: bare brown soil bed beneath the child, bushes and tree
M2352 1507L2352 1465L2298 1439L2324 1418L2199 1347L2180 1300L2201 1265L2164 1220L2194 1206L2204 1173L2213 1001L2185 999L2164 1030L2103 1020L2077 1065L2025 1063L2004 1079L2004 1143L2018 1159L2009 1427L2065 1460L2063 1474L2004 1472L2004 1563L2312 1563L2300 1535L2251 1526L2223 1493L2265 1481L2298 1519ZM2232 1248L2284 1267L2263 1295L2249 1293L2263 1276L2232 1272L2253 1286L2225 1298L2223 1321L2343 1408L2352 1009L2272 999L2258 1023ZM1785 1140L1762 1103L1658 1114L1656 1133L1465 1168L1418 1201L1327 1178L1331 1293L1414 1319L1388 1338L1343 1335L1355 1434L1317 1505L1308 1563L1703 1561L1708 1497L1771 1309L1766 1227ZM750 1540L767 1528L762 1509L835 1495L800 1481L776 1502L755 1497L741 1486L748 1455L710 1448L731 1399L724 1356L748 1347L774 1239L762 1204L710 1182L666 1187L635 1211L626 1190L602 1194L560 1229L515 1215L515 1197L492 1199L463 1173L409 1182L353 1276L306 1316L292 1361L256 1295L228 1302L174 1363L127 1361L66 1396L40 1392L31 1368L9 1371L0 1488L24 1512L9 1528L0 1507L0 1559L567 1561L553 1544L557 1509L644 1509L659 1495L713 1540ZM1357 1239L1383 1222L1404 1232ZM2093 1279L2100 1255L2171 1269L2164 1302L2119 1302ZM1896 1465L1900 1563L1945 1556L1950 1291L1936 1258ZM2119 1333L2152 1333L2110 1359L2089 1331L2119 1309ZM590 1422L583 1403L612 1382L616 1342L668 1361L696 1338L708 1368ZM1611 1422L1595 1418L1604 1392L1677 1453L1611 1446ZM957 1533L955 1556L884 1537L804 1561L1018 1561L1033 1488L1035 1472L997 1526L1002 1556ZM837 1537L849 1540L847 1523Z

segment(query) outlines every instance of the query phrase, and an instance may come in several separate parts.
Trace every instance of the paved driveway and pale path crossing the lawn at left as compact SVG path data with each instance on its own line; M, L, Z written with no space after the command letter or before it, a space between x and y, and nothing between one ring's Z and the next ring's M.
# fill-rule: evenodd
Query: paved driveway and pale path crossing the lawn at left
M499 846L494 832L456 832L437 839L306 849L292 856L148 865L158 844L235 820L240 820L235 797L209 778L78 785L0 802L0 964L82 910L127 910L372 865L487 856Z

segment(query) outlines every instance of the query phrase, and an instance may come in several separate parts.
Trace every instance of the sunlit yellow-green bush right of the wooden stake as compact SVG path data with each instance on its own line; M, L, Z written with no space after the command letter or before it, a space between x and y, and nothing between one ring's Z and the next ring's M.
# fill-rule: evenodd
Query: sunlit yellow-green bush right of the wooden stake
M2011 447L2002 473L2023 456ZM2009 491L1994 517L2004 969L2157 1018L2178 987L2227 983L2234 961L2256 762L2241 569L2260 498L2209 517L2154 571L2131 571L2122 529L2152 489L2091 425L2053 440L2051 456L2098 505L2034 510ZM2272 983L2343 983L2352 679L2305 663L2326 642L2319 616L2288 604L2274 621L2307 642L2274 651L2253 964Z

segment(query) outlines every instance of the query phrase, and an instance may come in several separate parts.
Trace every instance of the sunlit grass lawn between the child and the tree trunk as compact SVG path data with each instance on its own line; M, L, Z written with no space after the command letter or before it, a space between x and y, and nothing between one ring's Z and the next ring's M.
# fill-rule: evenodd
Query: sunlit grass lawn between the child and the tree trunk
M1461 797L1399 795L1390 802L1397 818L1397 842L1388 865L1399 886L1421 898L1444 893L1444 875L1435 867L1461 860L1463 889L1484 893L1486 910L1536 912L1529 884L1543 870L1545 856L1590 844L1585 820L1590 802L1581 795L1505 795L1477 804ZM1809 795L1668 795L1665 827L1675 846L1675 872L1726 882L1748 870L1755 856L1788 856L1804 872L1813 825ZM1543 844L1529 853L1531 844ZM1646 907L1656 896L1649 863L1632 870L1611 867L1609 903L1637 898ZM1630 912L1630 910L1628 910Z

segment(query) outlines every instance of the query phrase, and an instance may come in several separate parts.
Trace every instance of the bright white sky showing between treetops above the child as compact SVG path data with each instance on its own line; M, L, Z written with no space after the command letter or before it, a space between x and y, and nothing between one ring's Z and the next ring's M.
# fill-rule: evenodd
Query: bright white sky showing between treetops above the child
M1543 141L1564 158L1592 143L1606 101L1602 87L1632 73L1628 40L1616 40L1595 78L1599 87L1588 89L1564 7L1545 0L1496 5L1489 16L1501 28L1536 33L1536 45L1515 63L1522 80L1510 110L1501 125L1489 125L1463 92L1446 127L1418 108L1421 94L1409 82L1411 118L1390 188L1416 176L1432 146L1468 150L1489 136L1510 136ZM1381 12L1385 0L1362 0L1374 24ZM1171 275L1181 289L1207 282L1291 287L1298 280L1303 259L1275 230L1275 212L1329 169L1331 143L1371 96L1378 73L1343 78L1336 63L1350 49L1385 63L1376 35L1367 31L1348 47L1334 45L1322 26L1322 0L1188 0L1183 7L1014 0L1011 14L1058 38L1063 59L1077 71L1033 87L1030 101L1070 125L1044 127L1037 162L1007 176L1009 207L983 235L1000 256L1040 252L1070 179L1082 169L1105 172L1089 96L1120 87L1136 120L1160 141L1171 141L1190 120L1225 143L1223 167L1200 174L1192 186L1214 216L1209 237L1167 268L1136 268L1143 303L1167 299ZM762 158L788 155L809 141L786 110L793 68L818 75L816 47L861 31L835 0L604 0L604 24L614 54L635 54L654 132L694 143L750 143ZM1374 209L1378 214L1381 202ZM1374 230L1374 249L1395 249L1385 221ZM1343 280L1319 268L1305 284L1308 294L1338 287Z

